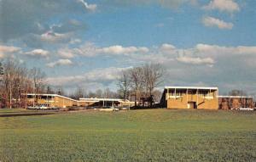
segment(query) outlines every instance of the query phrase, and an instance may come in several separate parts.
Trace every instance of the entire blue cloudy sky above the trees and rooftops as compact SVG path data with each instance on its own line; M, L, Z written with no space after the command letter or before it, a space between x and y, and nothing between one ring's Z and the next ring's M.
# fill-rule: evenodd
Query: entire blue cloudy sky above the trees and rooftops
M40 67L72 91L116 88L149 62L163 86L256 94L254 0L0 0L0 58ZM160 87L161 88L161 87Z

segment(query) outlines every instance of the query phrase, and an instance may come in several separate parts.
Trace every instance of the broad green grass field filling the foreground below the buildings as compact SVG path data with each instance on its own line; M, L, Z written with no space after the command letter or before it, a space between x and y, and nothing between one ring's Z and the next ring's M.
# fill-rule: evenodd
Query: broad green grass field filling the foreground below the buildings
M0 161L256 161L256 112L148 109L3 117Z

